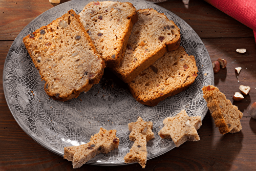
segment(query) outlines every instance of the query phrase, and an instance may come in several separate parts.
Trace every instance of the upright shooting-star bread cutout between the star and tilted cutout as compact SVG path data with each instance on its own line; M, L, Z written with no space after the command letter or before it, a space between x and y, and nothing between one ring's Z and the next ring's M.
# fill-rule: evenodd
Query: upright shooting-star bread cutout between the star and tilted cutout
M130 133L130 140L135 141L130 152L124 156L125 163L138 162L142 168L146 166L146 143L154 138L152 132L153 122L143 121L141 117L138 117L136 122L128 124Z

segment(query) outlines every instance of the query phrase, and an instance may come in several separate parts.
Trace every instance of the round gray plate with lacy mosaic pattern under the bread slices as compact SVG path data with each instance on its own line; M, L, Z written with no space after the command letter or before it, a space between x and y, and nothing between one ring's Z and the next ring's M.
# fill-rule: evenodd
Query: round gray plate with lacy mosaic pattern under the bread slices
M49 98L44 91L45 82L34 67L22 39L70 9L79 13L89 1L74 0L58 5L36 17L18 34L6 57L3 73L5 97L13 117L31 138L49 151L63 156L65 146L89 142L90 136L98 133L100 127L115 129L120 139L119 148L109 154L99 154L88 163L125 164L123 157L133 145L129 140L127 124L141 116L154 125L155 139L147 143L147 159L152 159L175 147L172 140L163 140L158 136L164 118L174 116L182 109L189 116L204 118L207 113L201 89L214 83L214 73L208 52L197 33L180 17L156 4L138 0L129 2L137 9L154 8L176 23L181 29L181 46L196 58L198 77L186 91L154 107L138 103L125 84L108 71L100 83L76 99L59 102Z

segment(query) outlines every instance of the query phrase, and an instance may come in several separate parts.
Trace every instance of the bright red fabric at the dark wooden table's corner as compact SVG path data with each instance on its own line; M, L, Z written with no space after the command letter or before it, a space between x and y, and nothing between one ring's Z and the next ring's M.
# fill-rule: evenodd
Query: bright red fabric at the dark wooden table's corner
M205 0L227 15L251 28L256 42L256 0Z

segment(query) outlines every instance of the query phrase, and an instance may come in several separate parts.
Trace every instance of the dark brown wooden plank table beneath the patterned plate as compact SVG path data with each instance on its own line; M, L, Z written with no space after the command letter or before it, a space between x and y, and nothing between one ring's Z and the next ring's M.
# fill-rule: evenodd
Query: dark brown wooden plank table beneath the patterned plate
M61 3L66 1L61 1ZM231 102L239 86L250 86L249 95L233 102L243 112L243 130L221 135L208 112L198 130L198 142L187 141L178 148L139 164L95 166L76 170L254 170L256 168L256 120L248 113L256 101L256 44L248 27L204 1L158 3L187 22L200 36L211 60L224 58L227 68L215 74L215 86ZM8 50L18 33L39 14L54 7L48 0L0 0L0 170L73 170L72 163L48 151L30 138L14 120L3 91L3 68ZM236 52L246 48L246 54ZM234 68L242 67L237 79ZM240 82L238 82L238 80Z

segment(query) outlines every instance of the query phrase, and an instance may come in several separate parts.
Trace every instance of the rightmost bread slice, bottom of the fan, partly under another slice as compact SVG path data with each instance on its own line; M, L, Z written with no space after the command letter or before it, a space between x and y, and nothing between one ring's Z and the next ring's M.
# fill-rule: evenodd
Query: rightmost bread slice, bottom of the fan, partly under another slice
M180 46L166 52L128 86L138 102L155 106L166 97L187 89L195 81L197 73L195 57L188 55Z

